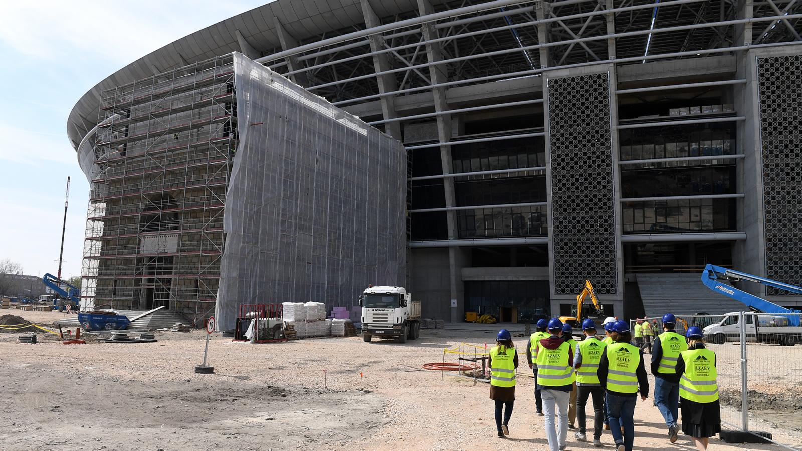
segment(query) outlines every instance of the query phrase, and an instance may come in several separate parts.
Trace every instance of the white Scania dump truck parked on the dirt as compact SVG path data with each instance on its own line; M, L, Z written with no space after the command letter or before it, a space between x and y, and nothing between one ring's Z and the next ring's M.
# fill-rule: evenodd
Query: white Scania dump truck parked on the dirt
M373 335L381 338L416 339L420 335L420 301L402 286L368 286L359 296L362 307L362 334L366 343Z

